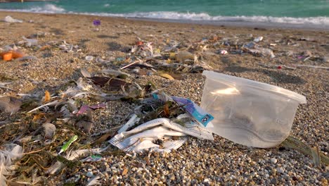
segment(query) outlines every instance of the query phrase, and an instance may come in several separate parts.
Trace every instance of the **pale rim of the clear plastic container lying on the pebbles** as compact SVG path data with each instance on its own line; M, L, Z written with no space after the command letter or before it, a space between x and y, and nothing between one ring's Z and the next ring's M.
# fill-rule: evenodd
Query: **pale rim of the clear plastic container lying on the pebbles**
M298 94L296 92L292 92L288 89L283 89L281 87L277 87L275 85L269 85L264 82L257 82L254 80L248 80L242 77L236 77L232 75L225 75L222 73L215 73L213 71L209 70L204 70L202 75L205 75L207 78L212 79L212 80L219 80L219 81L226 81L226 82L231 82L233 84L237 85L245 85L249 87L256 87L259 89L263 89L264 91L268 92L275 92L278 94L281 94L285 97L289 97L291 99L295 99L296 101L299 101L299 104L306 104L307 99L301 94Z

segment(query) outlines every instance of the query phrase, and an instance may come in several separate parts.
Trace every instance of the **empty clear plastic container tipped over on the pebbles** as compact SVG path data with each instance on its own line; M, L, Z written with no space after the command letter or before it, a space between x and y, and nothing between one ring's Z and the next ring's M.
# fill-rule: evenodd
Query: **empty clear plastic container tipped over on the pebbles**
M298 104L306 98L288 89L231 75L207 77L201 107L214 116L207 130L238 144L275 147L288 137Z

